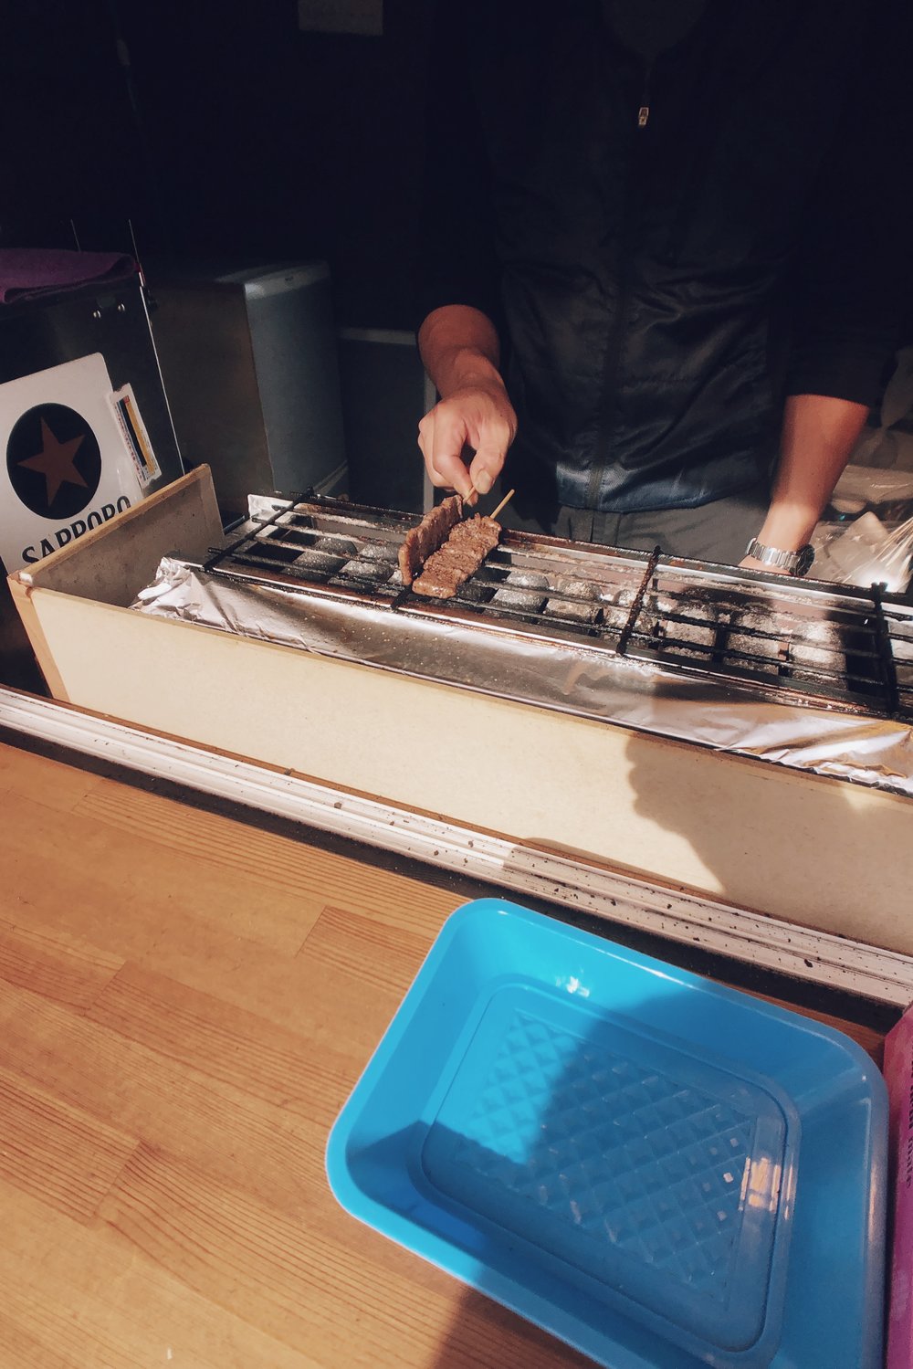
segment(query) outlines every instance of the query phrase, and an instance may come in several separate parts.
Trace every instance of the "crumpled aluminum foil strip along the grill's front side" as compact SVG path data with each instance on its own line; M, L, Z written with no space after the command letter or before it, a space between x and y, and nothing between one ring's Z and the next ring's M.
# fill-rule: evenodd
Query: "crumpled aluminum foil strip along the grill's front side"
M606 650L233 583L172 557L131 608L913 795L906 723L758 700Z

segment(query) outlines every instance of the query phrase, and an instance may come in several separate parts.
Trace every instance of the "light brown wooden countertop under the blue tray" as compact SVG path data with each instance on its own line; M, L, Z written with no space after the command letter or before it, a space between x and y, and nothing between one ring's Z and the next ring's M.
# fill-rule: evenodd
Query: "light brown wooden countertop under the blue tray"
M4 1369L590 1362L324 1179L461 898L8 746L0 808Z

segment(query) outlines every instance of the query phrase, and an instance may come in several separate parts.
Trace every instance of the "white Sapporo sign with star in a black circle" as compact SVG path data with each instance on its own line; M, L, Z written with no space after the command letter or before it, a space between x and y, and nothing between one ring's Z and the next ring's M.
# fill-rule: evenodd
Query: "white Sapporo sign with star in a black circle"
M16 571L142 497L101 353L0 385L0 560Z

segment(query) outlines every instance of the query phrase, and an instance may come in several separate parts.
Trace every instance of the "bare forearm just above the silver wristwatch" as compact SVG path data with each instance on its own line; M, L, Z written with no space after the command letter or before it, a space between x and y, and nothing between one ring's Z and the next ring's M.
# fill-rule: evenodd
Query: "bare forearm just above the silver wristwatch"
M866 415L862 404L823 394L787 400L780 463L760 542L798 550L809 541Z

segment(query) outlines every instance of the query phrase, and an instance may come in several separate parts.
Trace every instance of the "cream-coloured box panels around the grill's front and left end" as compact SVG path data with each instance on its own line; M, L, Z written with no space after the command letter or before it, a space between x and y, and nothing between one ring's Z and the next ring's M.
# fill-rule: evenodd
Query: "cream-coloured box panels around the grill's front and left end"
M208 468L11 576L56 700L868 945L913 951L913 801L146 617L223 541Z

